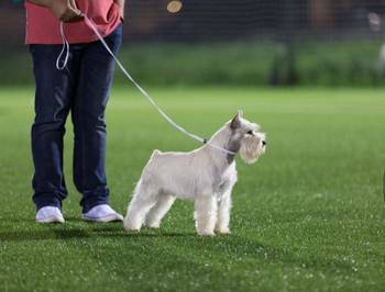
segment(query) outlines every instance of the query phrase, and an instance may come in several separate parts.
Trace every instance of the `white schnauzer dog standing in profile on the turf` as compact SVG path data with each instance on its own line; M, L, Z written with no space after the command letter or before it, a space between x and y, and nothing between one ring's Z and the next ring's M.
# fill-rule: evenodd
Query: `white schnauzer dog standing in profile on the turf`
M246 164L253 164L264 154L265 146L260 126L243 119L239 111L198 149L154 150L129 204L124 228L140 231L143 224L158 228L175 199L180 198L195 201L194 218L199 235L229 234L231 191L237 182L235 155L240 153Z

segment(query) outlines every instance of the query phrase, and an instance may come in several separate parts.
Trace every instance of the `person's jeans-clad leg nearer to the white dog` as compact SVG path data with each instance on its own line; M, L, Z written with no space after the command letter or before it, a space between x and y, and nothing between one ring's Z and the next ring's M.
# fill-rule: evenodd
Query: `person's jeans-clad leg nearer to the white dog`
M117 53L121 26L106 42ZM85 45L81 52L78 87L72 109L75 146L74 182L82 194L82 213L108 204L105 110L114 70L113 58L100 42Z

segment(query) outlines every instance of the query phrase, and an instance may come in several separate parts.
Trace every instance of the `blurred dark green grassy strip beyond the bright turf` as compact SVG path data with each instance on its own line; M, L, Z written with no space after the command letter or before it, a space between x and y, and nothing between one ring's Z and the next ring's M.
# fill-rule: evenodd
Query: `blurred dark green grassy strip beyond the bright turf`
M295 42L294 70L279 42L144 43L128 42L119 58L144 85L384 87L380 75L381 42ZM0 47L1 50L1 47ZM0 80L33 85L28 47L4 49ZM160 74L162 72L162 74ZM116 85L125 85L118 74Z

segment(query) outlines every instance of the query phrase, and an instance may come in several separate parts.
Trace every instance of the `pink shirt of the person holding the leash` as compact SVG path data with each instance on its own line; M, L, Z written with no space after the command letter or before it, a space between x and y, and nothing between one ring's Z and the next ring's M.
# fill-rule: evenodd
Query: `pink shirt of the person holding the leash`
M76 0L77 8L92 19L101 35L110 34L120 24L119 7L113 0ZM25 1L26 44L62 44L59 21L50 9ZM85 21L65 23L69 43L89 43L97 40Z

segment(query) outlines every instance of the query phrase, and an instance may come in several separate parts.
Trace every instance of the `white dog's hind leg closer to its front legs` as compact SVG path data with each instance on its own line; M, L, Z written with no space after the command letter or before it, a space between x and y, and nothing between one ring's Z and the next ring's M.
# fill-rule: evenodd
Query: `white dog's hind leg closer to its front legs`
M162 218L166 215L166 213L172 207L174 202L175 202L174 195L160 194L157 196L157 202L148 211L145 217L145 225L151 228L158 228L161 225Z

